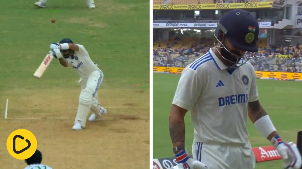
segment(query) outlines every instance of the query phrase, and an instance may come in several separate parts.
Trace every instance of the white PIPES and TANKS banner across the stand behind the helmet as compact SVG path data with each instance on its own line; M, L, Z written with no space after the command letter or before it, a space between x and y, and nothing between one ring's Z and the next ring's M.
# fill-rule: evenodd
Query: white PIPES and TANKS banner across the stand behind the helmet
M271 27L271 22L259 22L259 27ZM216 28L217 23L153 22L153 28Z

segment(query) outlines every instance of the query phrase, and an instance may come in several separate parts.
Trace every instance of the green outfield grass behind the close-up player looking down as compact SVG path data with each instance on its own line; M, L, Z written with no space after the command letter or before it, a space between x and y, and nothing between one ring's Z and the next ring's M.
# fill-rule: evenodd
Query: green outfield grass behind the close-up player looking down
M176 74L153 73L153 158L173 156L168 118L179 78L180 75ZM257 79L257 86L260 103L270 115L279 135L284 141L296 141L297 132L302 130L302 83ZM185 116L185 122L185 143L191 152L193 125L189 114ZM253 147L271 145L249 120L247 128ZM279 169L282 168L282 161L257 163L256 168Z

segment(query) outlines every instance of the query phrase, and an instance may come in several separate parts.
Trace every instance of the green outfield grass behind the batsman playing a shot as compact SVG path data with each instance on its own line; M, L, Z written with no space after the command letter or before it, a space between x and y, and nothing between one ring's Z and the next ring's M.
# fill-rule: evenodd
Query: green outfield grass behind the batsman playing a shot
M34 2L0 2L0 91L78 88L78 75L55 59L40 81L33 79L50 43L66 37L84 45L104 72L105 84L149 85L149 1L95 0L96 9L89 9L85 0L50 0L40 9Z

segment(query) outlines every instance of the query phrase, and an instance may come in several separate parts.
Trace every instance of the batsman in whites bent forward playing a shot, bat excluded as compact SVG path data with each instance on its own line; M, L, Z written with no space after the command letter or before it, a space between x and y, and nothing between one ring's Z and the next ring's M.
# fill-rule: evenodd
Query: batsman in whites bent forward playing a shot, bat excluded
M98 88L104 78L103 72L92 62L84 46L74 44L69 38L64 38L59 43L52 43L50 49L62 66L72 67L80 76L79 83L82 90L72 129L81 130L85 128L89 110L93 112L89 121L96 121L98 117L107 113L107 110L98 103Z

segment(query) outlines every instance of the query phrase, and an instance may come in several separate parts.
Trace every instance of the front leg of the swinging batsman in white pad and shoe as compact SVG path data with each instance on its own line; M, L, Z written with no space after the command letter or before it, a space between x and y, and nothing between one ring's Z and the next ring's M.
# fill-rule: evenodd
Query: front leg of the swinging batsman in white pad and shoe
M91 108L91 103L92 90L90 88L85 88L80 93L78 112L76 114L75 125L72 127L73 130L85 128L86 118Z

